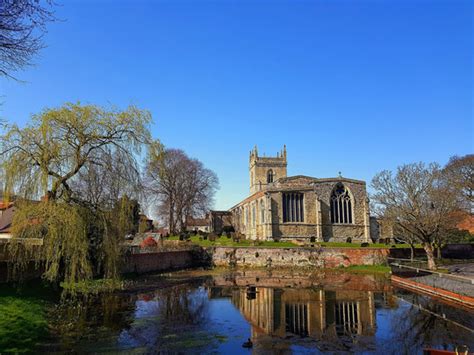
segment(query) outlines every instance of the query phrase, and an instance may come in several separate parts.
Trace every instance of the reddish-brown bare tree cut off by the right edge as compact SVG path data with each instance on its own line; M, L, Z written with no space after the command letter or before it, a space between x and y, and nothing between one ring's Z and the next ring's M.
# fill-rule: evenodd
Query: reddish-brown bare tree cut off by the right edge
M444 168L444 176L459 193L460 207L469 213L474 210L474 154L454 156Z

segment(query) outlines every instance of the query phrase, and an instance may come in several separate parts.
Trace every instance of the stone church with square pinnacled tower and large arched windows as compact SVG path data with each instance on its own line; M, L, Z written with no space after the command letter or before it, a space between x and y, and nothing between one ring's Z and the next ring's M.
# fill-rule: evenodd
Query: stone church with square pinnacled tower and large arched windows
M286 146L250 152L250 196L230 209L236 232L253 240L370 242L365 181L287 176Z

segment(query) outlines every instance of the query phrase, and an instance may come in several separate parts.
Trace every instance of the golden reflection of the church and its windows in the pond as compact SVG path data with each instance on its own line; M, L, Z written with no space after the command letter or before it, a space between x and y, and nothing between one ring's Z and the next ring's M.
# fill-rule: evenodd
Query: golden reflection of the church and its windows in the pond
M234 289L232 303L260 335L297 335L317 340L375 333L374 294L370 291L314 289Z

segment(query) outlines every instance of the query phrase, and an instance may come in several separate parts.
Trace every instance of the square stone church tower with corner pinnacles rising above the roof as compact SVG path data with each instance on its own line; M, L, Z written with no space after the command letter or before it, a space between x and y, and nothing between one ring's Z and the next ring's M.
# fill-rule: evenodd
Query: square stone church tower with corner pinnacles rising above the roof
M286 145L276 157L259 157L257 146L250 152L250 194L266 190L268 184L286 177Z

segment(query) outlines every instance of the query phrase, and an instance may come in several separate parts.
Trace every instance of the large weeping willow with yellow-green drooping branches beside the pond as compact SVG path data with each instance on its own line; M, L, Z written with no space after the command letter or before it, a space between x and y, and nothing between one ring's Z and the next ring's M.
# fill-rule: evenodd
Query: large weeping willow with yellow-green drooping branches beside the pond
M92 170L105 174L110 166L137 170L143 150L153 146L150 121L150 113L135 106L117 110L67 103L33 115L25 127L6 125L0 136L5 195L23 199L10 243L17 265L24 263L27 253L21 250L28 243L16 241L41 238L42 252L35 256L44 262L49 280L75 282L94 271L117 275L123 238L114 221L117 213L102 200L91 203L93 193L83 177ZM110 175L107 181L115 183Z

